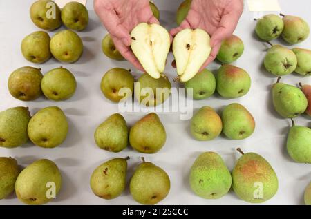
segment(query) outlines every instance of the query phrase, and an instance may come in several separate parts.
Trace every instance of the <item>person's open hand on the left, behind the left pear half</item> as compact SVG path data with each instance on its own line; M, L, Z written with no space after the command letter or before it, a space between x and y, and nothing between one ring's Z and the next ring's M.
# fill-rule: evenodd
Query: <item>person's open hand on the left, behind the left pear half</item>
M159 23L153 16L149 0L95 0L94 10L122 56L144 71L131 51L130 32L138 23Z

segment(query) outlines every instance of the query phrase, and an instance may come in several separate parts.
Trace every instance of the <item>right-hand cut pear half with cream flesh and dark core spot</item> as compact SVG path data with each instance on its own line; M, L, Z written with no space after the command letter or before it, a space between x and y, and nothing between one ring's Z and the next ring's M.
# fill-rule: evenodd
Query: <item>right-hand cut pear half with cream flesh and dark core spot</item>
M175 36L173 55L180 82L187 82L200 70L211 53L210 37L202 29L184 29Z

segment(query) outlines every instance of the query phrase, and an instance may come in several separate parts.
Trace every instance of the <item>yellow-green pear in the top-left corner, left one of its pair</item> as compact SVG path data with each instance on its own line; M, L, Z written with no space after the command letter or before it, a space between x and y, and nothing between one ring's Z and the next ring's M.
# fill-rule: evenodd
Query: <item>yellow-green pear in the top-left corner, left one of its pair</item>
M35 1L30 7L30 18L44 30L55 30L62 25L61 10L52 0Z

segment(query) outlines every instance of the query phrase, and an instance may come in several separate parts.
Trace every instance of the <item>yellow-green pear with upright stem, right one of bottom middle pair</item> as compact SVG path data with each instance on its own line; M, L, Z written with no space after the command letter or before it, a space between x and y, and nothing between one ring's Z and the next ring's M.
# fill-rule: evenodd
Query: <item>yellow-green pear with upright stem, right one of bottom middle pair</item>
M130 181L130 193L140 204L157 204L169 194L169 175L159 166L145 162L135 169Z

